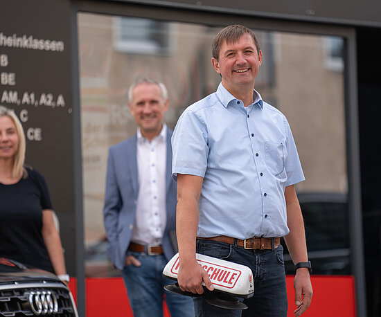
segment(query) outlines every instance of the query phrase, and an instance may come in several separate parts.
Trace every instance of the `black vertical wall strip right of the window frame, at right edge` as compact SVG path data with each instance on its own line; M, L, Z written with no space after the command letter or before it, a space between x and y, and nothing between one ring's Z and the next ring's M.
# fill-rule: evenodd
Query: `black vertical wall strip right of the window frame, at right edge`
M366 298L369 317L381 314L381 30L357 30L357 74Z

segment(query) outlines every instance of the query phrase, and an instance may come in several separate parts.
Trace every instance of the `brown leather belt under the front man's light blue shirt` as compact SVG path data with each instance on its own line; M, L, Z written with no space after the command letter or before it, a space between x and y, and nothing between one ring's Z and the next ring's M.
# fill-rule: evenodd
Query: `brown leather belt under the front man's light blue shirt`
M197 239L213 240L217 242L225 242L234 244L234 240L237 241L237 246L243 246L253 250L272 250L272 242L274 241L274 248L281 244L281 238L266 238L266 237L251 237L249 239L241 240L233 237L227 237L226 235L218 235L217 237L197 237Z

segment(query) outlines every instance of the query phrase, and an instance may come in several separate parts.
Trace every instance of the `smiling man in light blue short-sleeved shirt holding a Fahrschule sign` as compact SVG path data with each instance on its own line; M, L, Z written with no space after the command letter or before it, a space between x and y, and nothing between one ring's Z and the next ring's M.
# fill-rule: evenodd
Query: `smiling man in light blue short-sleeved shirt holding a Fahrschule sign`
M294 184L304 180L287 119L254 90L262 52L245 26L228 26L212 44L222 82L179 118L172 136L177 180L179 286L213 285L195 253L247 265L255 295L242 316L287 316L284 237L296 267L296 310L310 305L310 262ZM240 316L195 298L196 316Z

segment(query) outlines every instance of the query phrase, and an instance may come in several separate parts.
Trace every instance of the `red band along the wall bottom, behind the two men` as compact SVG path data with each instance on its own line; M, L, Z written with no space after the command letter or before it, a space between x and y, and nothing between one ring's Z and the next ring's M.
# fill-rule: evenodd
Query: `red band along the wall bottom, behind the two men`
M308 311L303 317L355 317L355 280L353 276L312 275L314 295ZM294 277L287 276L288 314L294 316ZM70 288L76 298L76 279L72 278ZM254 295L255 296L255 295ZM170 317L164 306L164 316ZM132 317L127 293L122 278L86 279L87 317L126 316Z

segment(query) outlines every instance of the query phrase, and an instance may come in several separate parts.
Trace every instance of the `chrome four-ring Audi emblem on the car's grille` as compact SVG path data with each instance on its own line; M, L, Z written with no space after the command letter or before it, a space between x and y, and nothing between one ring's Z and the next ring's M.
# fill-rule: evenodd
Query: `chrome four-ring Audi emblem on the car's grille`
M28 300L36 315L55 315L58 312L57 297L51 291L31 291Z

